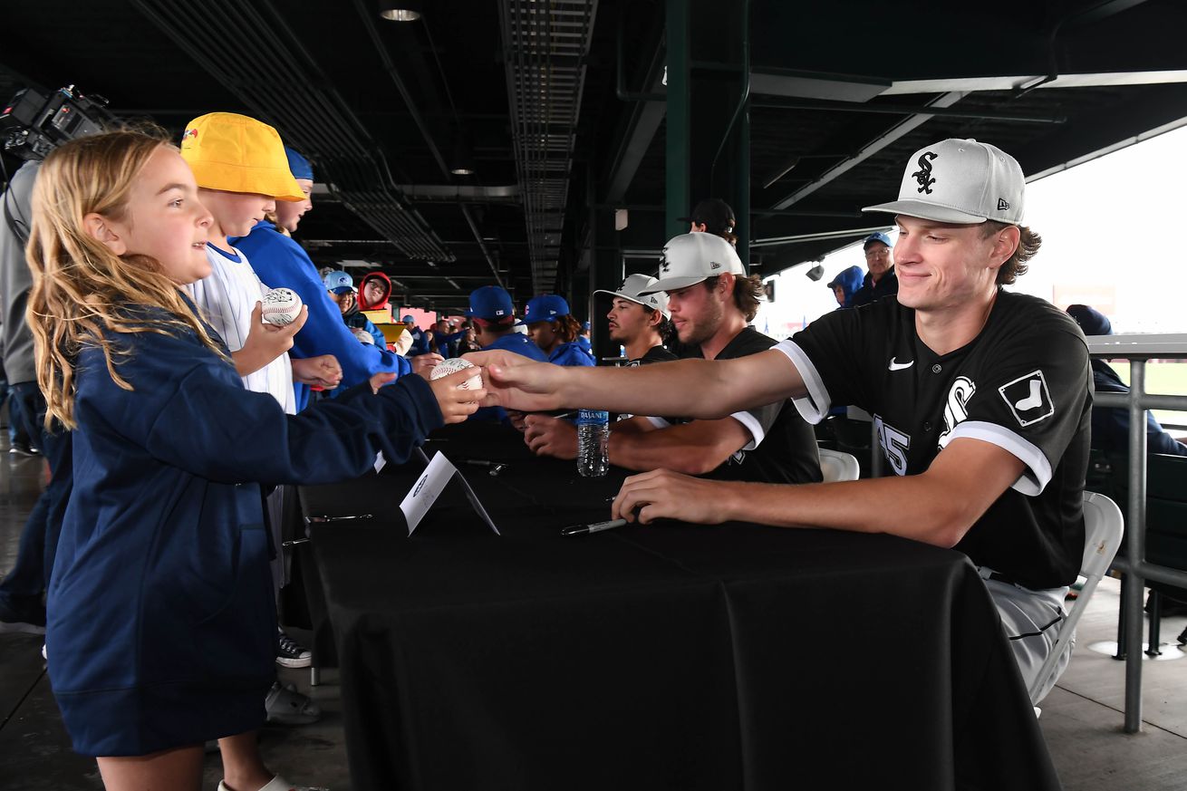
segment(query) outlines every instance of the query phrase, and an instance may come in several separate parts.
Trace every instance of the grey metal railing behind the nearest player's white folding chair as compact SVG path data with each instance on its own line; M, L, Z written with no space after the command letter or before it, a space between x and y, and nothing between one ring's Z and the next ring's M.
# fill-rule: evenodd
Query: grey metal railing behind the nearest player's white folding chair
M1145 392L1145 362L1160 359L1187 359L1187 334L1099 335L1090 336L1087 341L1088 353L1093 357L1130 361L1130 392L1097 393L1093 405L1129 409L1126 557L1115 559L1112 568L1129 575L1128 584L1122 590L1126 645L1125 733L1138 733L1142 729L1142 657L1144 656L1142 638L1145 628L1142 594L1145 590L1145 581L1154 580L1187 588L1187 571L1145 559L1145 410L1187 410L1187 396L1156 396Z

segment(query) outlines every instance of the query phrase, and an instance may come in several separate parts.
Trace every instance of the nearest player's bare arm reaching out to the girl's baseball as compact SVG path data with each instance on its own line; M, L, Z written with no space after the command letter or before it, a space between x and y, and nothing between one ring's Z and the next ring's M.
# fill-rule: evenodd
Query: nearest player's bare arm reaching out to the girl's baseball
M795 366L775 350L635 368L556 366L509 352L464 356L483 367L484 405L525 412L601 409L710 419L806 392Z

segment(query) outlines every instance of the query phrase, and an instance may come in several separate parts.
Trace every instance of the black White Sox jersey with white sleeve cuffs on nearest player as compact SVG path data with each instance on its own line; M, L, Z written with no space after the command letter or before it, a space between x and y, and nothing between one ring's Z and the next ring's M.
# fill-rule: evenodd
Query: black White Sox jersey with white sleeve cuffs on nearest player
M915 311L887 297L827 314L779 348L807 385L808 398L795 401L804 417L818 423L831 406L849 404L870 412L899 475L922 473L957 437L1022 460L1022 476L956 549L1028 588L1075 581L1092 371L1069 316L998 291L980 334L937 355L915 334Z

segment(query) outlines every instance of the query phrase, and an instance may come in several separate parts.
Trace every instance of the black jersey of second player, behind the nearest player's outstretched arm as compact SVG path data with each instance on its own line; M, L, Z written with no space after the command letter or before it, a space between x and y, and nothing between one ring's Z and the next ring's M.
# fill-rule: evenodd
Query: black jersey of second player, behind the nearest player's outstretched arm
M717 359L744 357L766 352L775 343L775 338L747 327L725 344ZM684 356L702 356L700 347L686 348ZM789 400L735 412L730 417L744 425L753 439L704 477L763 483L813 483L823 480L815 435ZM661 428L675 422L648 419Z

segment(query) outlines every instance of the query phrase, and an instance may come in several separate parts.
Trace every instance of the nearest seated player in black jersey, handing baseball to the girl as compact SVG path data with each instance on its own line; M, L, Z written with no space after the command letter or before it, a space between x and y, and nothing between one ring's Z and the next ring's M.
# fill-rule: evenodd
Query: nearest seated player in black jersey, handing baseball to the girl
M1022 170L975 140L915 152L895 215L897 297L827 314L775 349L661 372L556 373L482 357L495 403L715 417L779 397L813 420L834 404L876 416L893 477L755 486L667 472L633 476L615 515L886 532L965 552L1002 615L1027 686L1064 616L1084 550L1092 374L1075 323L1002 289L1040 239L1022 223Z

